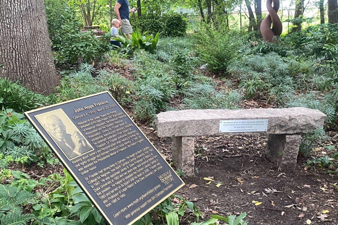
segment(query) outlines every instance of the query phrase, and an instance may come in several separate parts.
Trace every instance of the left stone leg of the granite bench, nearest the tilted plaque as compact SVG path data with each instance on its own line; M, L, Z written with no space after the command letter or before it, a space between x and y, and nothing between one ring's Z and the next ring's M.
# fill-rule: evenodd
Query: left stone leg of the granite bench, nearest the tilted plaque
M172 161L186 175L194 174L195 137L172 137Z

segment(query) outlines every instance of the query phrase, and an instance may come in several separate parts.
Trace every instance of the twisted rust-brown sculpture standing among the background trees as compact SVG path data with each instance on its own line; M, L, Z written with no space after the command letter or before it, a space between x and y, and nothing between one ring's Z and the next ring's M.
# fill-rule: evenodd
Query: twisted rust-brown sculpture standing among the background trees
M269 14L261 23L261 33L264 40L273 42L276 41L275 39L273 40L273 36L279 36L282 33L282 22L277 15L279 9L279 0L267 0L266 8L268 9Z

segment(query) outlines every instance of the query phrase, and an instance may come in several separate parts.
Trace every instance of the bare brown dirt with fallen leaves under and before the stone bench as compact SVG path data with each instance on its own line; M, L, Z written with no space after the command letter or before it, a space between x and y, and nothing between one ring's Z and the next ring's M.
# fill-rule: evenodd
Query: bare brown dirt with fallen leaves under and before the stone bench
M169 142L170 138L163 143ZM261 135L199 138L198 173L183 177L186 185L178 194L193 201L206 217L246 212L249 224L306 224L308 219L311 224L338 224L338 190L330 185L337 176L305 171L303 162L295 172L278 171L264 158L265 143ZM207 184L204 177L215 181ZM278 192L266 193L268 188ZM256 206L255 201L262 203ZM329 213L320 213L323 210Z

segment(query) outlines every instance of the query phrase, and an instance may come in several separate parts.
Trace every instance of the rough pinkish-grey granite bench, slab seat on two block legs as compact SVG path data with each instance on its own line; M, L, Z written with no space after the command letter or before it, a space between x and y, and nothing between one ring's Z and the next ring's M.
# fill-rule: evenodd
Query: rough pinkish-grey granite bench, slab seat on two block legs
M303 107L284 109L205 109L161 112L156 115L158 137L172 137L172 160L187 175L194 173L194 137L267 133L266 157L283 170L296 165L301 133L323 126L326 115ZM266 119L261 132L220 133L220 120Z

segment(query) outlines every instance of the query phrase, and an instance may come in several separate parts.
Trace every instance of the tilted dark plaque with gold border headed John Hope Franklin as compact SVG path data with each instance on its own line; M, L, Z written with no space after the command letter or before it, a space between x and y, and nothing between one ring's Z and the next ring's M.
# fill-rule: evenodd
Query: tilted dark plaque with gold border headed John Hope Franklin
M108 92L25 112L109 224L132 224L184 182Z

